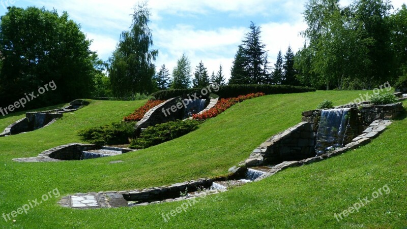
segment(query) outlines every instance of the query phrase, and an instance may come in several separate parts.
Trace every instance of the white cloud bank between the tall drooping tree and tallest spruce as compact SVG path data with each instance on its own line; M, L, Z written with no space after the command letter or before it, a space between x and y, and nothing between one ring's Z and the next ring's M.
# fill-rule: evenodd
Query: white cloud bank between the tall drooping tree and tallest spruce
M195 30L191 26L177 25L172 29L155 29L155 44L165 53L160 53L157 67L163 63L172 70L177 59L185 53L194 68L200 60L212 73L223 65L224 73L229 77L233 57L241 43L246 28L218 28L215 30Z

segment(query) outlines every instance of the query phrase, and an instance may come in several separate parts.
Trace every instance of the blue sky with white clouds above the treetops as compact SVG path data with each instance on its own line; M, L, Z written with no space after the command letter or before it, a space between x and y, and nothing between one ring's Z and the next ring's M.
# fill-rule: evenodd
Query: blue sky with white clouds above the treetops
M13 3L14 4L11 4ZM278 51L292 46L297 51L304 40L299 32L306 28L302 12L306 0L150 0L154 48L159 50L157 68L165 64L170 71L185 53L195 67L200 60L208 71L224 67L227 78L230 67L250 21L261 26L262 40L267 45L270 62ZM351 0L341 0L347 5ZM405 0L392 0L400 8ZM93 40L91 49L107 60L123 30L131 24L137 0L0 0L0 14L8 5L55 8L67 11L82 31Z

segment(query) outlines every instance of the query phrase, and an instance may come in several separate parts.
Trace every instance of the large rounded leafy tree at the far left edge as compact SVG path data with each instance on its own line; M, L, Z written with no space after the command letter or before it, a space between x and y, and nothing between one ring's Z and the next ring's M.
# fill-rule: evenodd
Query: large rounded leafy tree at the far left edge
M56 90L27 103L25 109L89 97L97 60L90 45L66 12L59 16L44 8L8 8L0 22L0 106L51 81Z

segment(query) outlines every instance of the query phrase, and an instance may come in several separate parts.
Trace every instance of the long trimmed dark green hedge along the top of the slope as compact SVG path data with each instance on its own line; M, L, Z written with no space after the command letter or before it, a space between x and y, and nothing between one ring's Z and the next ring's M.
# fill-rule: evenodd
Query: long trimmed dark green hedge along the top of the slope
M202 89L208 88L163 90L157 91L151 94L151 96L155 97L156 100L169 100L177 96L187 97L188 94L191 95L194 94L195 92L197 93L197 95L200 95ZM302 93L310 91L316 91L316 89L311 87L300 87L291 85L227 85L220 86L219 91L215 91L214 89L212 89L212 93L219 95L221 99L238 97L239 95L242 94L251 94L259 92L263 92L267 95L267 94Z

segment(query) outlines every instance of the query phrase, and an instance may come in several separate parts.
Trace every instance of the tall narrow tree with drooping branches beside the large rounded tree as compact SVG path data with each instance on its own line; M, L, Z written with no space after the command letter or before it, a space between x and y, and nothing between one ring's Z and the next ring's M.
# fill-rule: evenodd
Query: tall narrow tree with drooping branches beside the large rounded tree
M123 31L119 44L109 59L109 76L113 94L117 97L134 96L154 91L154 61L158 50L152 50L153 38L148 26L150 11L140 4L133 13L130 31Z

